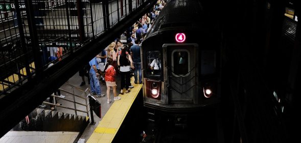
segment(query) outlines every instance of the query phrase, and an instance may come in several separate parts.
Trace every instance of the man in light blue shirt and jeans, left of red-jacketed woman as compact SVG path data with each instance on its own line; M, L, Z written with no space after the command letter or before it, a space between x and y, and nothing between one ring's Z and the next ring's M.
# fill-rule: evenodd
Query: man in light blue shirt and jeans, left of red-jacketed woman
M96 94L96 97L104 97L105 94L101 94L100 84L99 84L99 73L97 71L98 64L97 64L97 58L94 57L90 62L89 65L90 68L90 87L91 87L91 95Z

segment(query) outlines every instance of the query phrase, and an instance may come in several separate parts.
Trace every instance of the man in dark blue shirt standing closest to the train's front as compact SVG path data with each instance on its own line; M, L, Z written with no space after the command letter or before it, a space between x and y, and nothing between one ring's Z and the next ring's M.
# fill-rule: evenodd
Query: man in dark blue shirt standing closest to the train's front
M134 78L135 84L137 84L137 74L139 74L139 83L142 83L142 73L141 73L141 52L140 52L140 39L135 40L135 44L131 46L131 56L133 59L134 69Z

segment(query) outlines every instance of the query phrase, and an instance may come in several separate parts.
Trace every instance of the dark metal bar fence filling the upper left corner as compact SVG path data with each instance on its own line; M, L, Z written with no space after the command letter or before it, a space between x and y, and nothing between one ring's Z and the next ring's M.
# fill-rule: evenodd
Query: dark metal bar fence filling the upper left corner
M0 1L0 98L147 1Z

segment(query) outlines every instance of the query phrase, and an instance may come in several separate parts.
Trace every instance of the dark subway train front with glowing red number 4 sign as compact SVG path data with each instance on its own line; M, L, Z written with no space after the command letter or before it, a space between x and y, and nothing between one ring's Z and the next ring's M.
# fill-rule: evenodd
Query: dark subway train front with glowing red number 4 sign
M221 33L199 1L169 1L142 42L146 107L188 112L220 100Z

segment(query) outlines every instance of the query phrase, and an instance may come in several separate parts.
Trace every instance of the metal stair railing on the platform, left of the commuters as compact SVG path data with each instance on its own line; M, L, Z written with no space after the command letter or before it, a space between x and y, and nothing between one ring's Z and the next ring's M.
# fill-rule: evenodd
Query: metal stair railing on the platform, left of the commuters
M65 84L67 84L67 85L69 85L69 86L71 87L72 92L68 92L68 91L63 90L63 89L60 89L60 88L59 88L59 90L60 90L61 92L64 92L64 93L71 94L72 97L73 97L73 100L66 99L66 98L61 98L61 97L59 97L59 96L56 96L56 95L52 94L50 98L53 98L54 103L45 102L45 101L44 101L43 103L44 103L44 104L48 104L48 105L53 105L53 106L55 107L55 109L56 109L56 107L61 107L61 108L65 108L65 109L74 110L74 111L75 111L75 115L77 115L77 111L84 112L84 113L87 114L87 117L89 117L89 108L88 108L88 106L89 106L89 103L88 103L88 100L89 100L89 99L88 99L88 96L89 96L89 95L88 95L88 94L90 93L89 88L87 88L85 91L83 91L83 90L81 90L81 89L75 87L74 85L71 85L70 83L65 83ZM78 90L79 92L82 92L82 94L84 94L84 97L79 96L79 95L76 95L74 90ZM75 97L78 97L78 98L81 98L81 99L85 100L85 104L82 104L82 103L80 103L80 102L77 102L76 99L75 99ZM63 106L63 105L57 105L55 98L59 98L59 99L62 99L62 100L68 101L68 102L72 102L72 103L74 104L74 108L72 108L72 107L67 107L67 106ZM86 107L86 110L84 111L84 110L79 110L79 109L77 109L77 104L82 105L82 106L85 106L85 107ZM92 115L91 115L91 116L92 116Z

